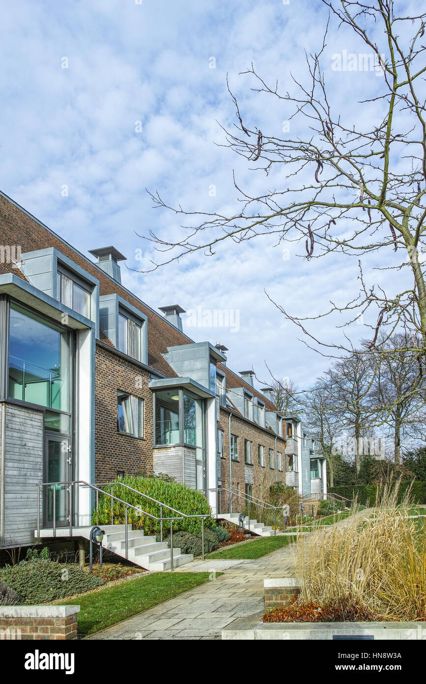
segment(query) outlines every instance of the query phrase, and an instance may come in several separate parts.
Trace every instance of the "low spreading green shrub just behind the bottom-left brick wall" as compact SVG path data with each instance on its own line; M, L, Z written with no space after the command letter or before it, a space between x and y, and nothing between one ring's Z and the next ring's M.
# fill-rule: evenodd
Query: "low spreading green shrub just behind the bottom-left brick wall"
M0 581L18 594L21 603L26 604L64 599L105 584L101 577L93 577L78 566L39 557L1 568Z

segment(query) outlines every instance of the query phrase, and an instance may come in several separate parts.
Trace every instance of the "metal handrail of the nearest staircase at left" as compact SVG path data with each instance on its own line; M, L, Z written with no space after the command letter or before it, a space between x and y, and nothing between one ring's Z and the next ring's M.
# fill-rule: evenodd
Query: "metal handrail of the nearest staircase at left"
M122 482L107 482L107 483L98 483L98 484L89 484L88 482L85 482L84 480L72 480L70 482L42 482L41 484L37 485L37 536L40 536L40 489L42 491L44 487L50 487L51 490L53 490L53 537L56 537L56 530L57 530L57 523L56 523L56 490L57 488L67 488L68 490L68 520L69 520L69 534L70 537L72 537L72 528L75 527L72 525L72 521L75 518L75 510L74 510L74 503L75 503L75 486L77 485L77 492L79 491L79 488L89 488L90 490L95 492L96 496L96 510L98 510L98 505L99 505L99 493L107 496L109 499L111 499L111 525L114 525L114 509L113 509L113 502L118 501L118 503L121 503L124 505L124 542L125 542L125 549L126 549L126 560L129 560L129 529L128 529L128 511L129 508L137 511L139 515L144 515L148 516L148 518L151 518L152 520L155 520L160 523L160 539L161 542L163 541L163 521L170 521L170 570L174 570L174 563L173 563L173 523L178 520L183 520L183 518L201 518L201 540L202 540L202 560L204 560L204 518L210 518L210 514L195 514L195 515L188 515L186 513L183 513L182 511L177 510L176 508L172 508L172 506L168 505L167 503L163 503L162 501L157 501L157 499L153 499L152 497L148 496L147 494L144 494L144 492L139 492L137 489L133 489L132 487L123 484ZM129 503L128 501L124 501L123 499L120 499L119 497L114 496L113 490L114 490L114 485L120 485L124 488L127 488L136 494L140 495L141 497L145 497L146 499L149 499L150 501L153 501L154 503L157 503L160 507L160 516L155 516L152 513L148 513L147 511L143 510L140 508L140 506L135 506L133 503ZM111 486L111 492L106 492L104 489L101 489L102 486ZM53 488L53 489L52 489ZM163 516L163 508L167 508L168 510L176 513L177 515L175 516Z

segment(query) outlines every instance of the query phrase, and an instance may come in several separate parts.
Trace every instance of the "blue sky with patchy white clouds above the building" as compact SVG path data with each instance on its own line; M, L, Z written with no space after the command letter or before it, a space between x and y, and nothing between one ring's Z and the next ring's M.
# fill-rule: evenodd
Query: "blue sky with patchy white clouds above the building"
M253 368L260 384L271 382L266 365L299 389L327 369L330 360L308 349L274 302L301 317L327 311L330 300L343 304L358 293L358 260L307 261L298 256L304 243L276 246L262 237L147 273L159 257L140 236L173 239L183 220L153 207L146 189L188 211L235 213L233 171L250 192L280 187L282 170L265 179L223 146L221 126L236 122L226 74L248 124L279 134L287 104L259 96L240 73L253 63L283 90L293 87L291 74L306 80L305 51L321 48L327 18L320 0L14 0L2 7L0 189L90 259L88 250L114 245L127 257L126 287L155 310L182 306L184 332L226 345L228 365ZM331 69L333 53L364 47L333 22L327 43L336 111L375 114L353 102L374 94L380 77ZM308 129L294 134L306 137ZM391 248L380 261L365 258L367 283L392 288L395 274L375 267L398 258ZM310 330L330 344L341 339L341 322L311 321ZM372 334L357 323L346 333L354 341Z

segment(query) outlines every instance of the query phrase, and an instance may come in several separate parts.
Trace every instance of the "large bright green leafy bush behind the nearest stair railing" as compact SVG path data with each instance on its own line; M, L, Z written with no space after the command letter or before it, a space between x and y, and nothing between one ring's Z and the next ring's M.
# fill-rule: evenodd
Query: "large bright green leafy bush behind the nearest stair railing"
M127 485L137 490L132 492L131 490L125 488L123 485ZM109 492L110 487L107 486L105 489ZM138 492L142 492L139 494ZM128 509L128 522L133 525L133 529L143 529L144 533L147 535L155 535L160 531L159 521L150 518L148 515L144 515L144 512L151 515L160 517L160 506L150 499L146 499L142 496L146 494L152 499L157 499L163 504L163 518L170 518L174 514L168 510L167 505L172 506L172 508L185 513L186 515L209 515L211 516L211 508L207 502L206 497L202 495L195 489L190 489L185 484L180 484L178 482L170 482L169 479L161 477L124 477L118 479L118 484L113 485L113 495L126 501L136 508L140 509L136 511L134 508ZM114 523L116 525L123 525L125 521L125 506L118 501L114 501L113 504L113 514ZM111 499L108 495L99 495L98 509L94 510L92 514L92 525L110 525L111 524ZM204 518L204 527L211 527L213 525L213 518ZM166 530L170 529L170 523L168 521L163 521L163 534ZM173 525L173 529L176 531L187 531L196 534L198 530L201 529L201 519L200 518L183 518L182 520L176 520Z

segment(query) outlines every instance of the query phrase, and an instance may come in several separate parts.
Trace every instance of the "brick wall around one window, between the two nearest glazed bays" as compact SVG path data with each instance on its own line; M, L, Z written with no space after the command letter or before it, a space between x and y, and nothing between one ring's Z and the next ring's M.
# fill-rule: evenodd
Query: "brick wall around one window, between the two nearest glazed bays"
M152 473L152 391L150 373L96 345L95 464L96 482ZM144 439L117 430L117 391L144 399Z

